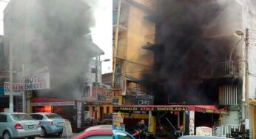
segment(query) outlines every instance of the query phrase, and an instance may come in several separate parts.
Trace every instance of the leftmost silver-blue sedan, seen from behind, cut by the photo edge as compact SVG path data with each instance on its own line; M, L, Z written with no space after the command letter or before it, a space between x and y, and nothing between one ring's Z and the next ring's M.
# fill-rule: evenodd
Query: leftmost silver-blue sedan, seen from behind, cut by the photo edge
M26 113L0 112L0 138L36 138L41 125Z

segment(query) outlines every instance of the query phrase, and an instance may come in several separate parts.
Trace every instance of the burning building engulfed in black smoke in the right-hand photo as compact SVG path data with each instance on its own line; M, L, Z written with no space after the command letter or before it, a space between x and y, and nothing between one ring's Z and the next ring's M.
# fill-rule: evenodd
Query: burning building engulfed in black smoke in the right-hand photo
M253 29L252 15L255 1L249 0L158 1L155 13L146 16L155 24L155 34L145 36L143 47L154 52L153 72L142 81L155 96L154 104L212 105L216 110L226 106L229 115L210 116L213 121L208 126L239 125L244 47L235 31ZM198 119L209 117L197 112L194 116L195 126L202 125ZM185 132L194 131L189 130Z

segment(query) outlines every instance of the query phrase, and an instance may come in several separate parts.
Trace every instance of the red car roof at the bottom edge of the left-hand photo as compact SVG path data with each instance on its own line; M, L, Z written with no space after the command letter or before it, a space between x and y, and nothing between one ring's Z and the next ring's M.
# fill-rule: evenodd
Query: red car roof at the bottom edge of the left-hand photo
M112 125L92 126L78 136L75 139L112 139Z

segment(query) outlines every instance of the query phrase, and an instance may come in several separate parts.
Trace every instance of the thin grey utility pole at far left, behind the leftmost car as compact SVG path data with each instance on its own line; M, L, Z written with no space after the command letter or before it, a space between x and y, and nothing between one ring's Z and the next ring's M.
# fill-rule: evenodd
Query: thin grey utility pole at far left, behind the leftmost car
M12 35L9 40L9 76L10 76L10 95L9 95L9 110L13 112L13 46Z

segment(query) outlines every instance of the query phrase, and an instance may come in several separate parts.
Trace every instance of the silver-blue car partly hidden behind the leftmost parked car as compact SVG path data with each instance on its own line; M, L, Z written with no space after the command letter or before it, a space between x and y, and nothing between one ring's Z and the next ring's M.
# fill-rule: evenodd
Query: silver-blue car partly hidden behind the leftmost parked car
M55 113L32 113L30 114L36 121L41 123L41 137L45 137L48 134L61 135L65 119Z

